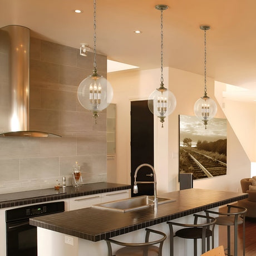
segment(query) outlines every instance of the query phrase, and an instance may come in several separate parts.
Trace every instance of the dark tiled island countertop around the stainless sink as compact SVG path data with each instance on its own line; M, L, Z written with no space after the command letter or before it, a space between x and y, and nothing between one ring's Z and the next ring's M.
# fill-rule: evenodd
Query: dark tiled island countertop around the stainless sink
M164 196L176 201L158 205L157 213L154 206L126 213L90 207L32 218L29 224L97 242L248 198L248 194L205 189L186 189Z

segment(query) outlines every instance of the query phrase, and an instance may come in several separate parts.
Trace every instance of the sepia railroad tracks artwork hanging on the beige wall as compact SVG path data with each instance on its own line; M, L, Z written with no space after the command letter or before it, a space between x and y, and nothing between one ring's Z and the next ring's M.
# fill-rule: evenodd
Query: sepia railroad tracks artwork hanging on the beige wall
M193 180L227 174L227 119L211 119L205 129L198 117L179 115L179 144L179 173Z

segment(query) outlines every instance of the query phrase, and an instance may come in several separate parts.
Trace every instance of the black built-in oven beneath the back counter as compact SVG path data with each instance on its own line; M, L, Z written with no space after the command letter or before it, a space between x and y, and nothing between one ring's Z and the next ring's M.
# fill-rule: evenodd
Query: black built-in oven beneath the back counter
M29 218L61 213L64 210L63 201L6 210L7 256L36 256L37 228L29 225Z

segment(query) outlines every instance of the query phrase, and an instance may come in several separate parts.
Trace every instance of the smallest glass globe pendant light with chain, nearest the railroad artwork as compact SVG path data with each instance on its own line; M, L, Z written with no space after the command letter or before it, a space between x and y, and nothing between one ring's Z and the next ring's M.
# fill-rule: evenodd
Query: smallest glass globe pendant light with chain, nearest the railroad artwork
M213 99L207 96L206 91L206 30L210 27L201 26L200 29L204 30L204 95L195 102L194 113L204 122L206 129L208 121L216 115L217 105Z

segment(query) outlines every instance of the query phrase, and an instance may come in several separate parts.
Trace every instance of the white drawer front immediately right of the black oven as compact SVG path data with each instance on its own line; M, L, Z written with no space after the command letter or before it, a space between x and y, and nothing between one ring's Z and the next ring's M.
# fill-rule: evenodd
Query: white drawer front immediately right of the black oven
M77 196L70 198L70 211L90 207L101 203L101 194Z

